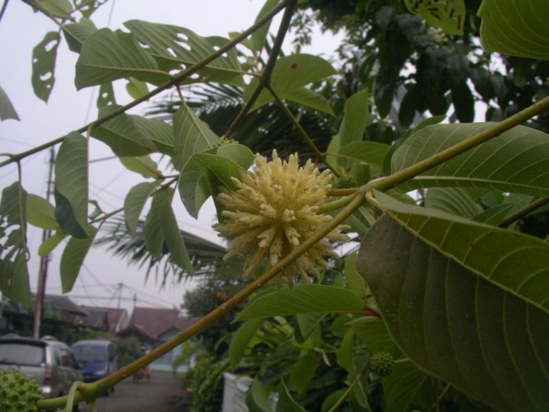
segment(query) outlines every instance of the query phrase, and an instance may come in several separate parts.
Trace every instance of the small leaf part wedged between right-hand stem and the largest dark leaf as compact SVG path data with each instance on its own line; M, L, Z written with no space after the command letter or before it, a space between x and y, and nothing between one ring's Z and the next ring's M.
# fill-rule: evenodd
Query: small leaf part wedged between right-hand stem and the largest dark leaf
M425 196L425 207L472 219L482 207L463 187L431 187Z

